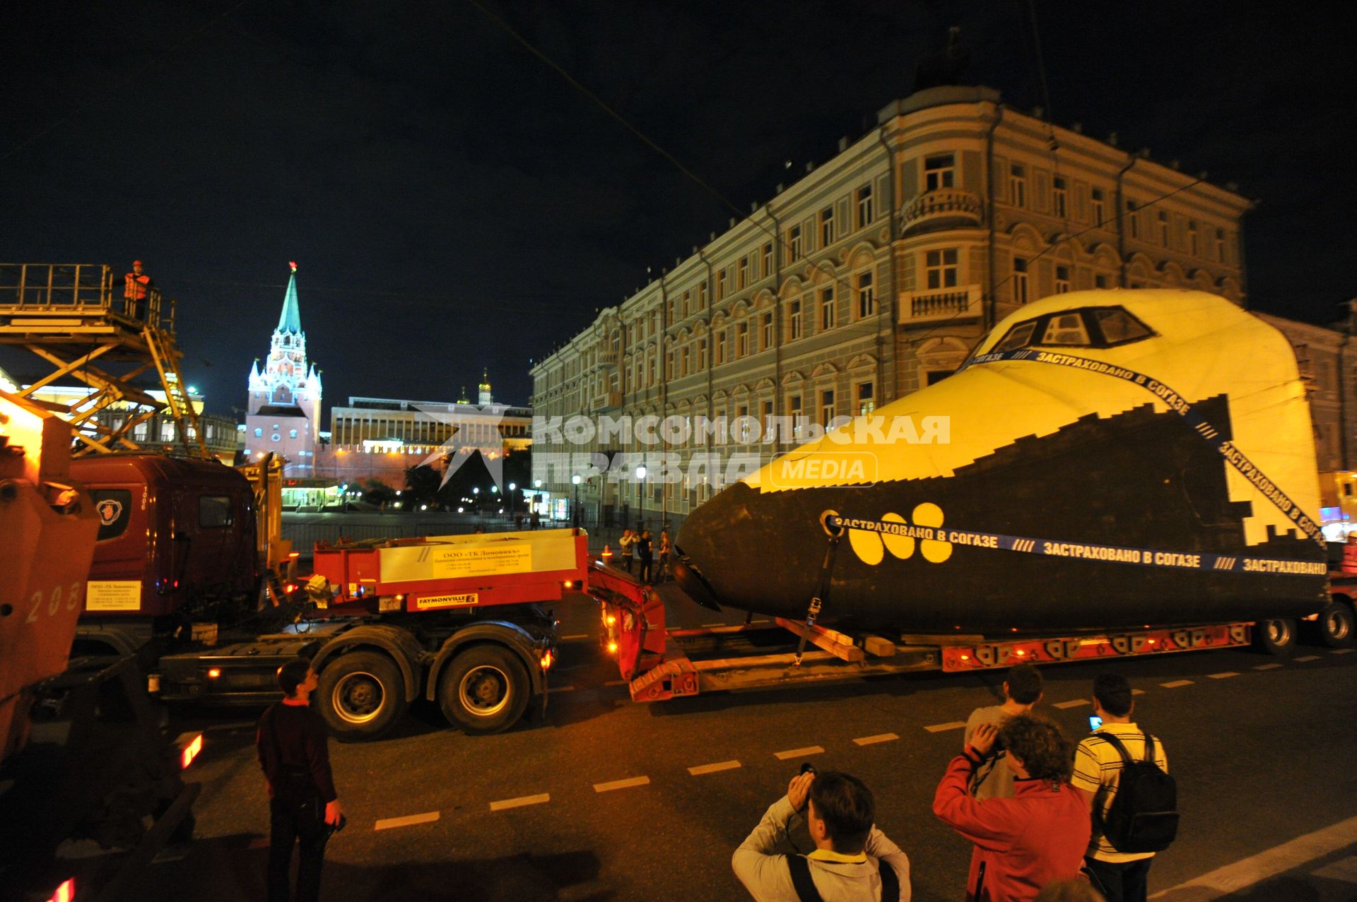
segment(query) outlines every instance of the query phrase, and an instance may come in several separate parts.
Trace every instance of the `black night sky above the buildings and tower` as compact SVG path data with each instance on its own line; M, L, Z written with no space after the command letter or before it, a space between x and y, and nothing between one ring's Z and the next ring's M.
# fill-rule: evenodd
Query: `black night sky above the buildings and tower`
M1045 103L1026 0L478 1L715 194L468 0L20 0L0 259L145 259L216 412L244 404L288 260L327 408L452 399L482 368L527 403L529 358L862 134L947 26L968 80ZM1337 319L1353 7L1034 5L1052 119L1236 182L1253 305Z

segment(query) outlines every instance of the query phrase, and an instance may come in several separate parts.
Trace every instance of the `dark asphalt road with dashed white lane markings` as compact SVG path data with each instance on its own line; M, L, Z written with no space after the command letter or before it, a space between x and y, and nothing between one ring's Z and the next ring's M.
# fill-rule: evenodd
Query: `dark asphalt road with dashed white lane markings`
M558 614L562 633L577 638L552 671L546 716L465 737L436 707L418 704L387 739L331 743L349 827L330 844L323 898L742 899L730 853L802 761L852 772L874 789L878 825L911 857L915 899L962 897L970 848L930 804L959 750L959 722L995 703L1001 674L916 674L638 705L597 648L596 609L579 601ZM688 606L670 619L722 620ZM1044 670L1042 709L1072 737L1087 731L1101 666ZM1349 761L1357 654L1301 646L1289 661L1224 650L1117 666L1144 693L1137 720L1164 741L1178 777L1182 830L1155 861L1152 893L1357 815ZM267 804L255 716L175 712L182 728L208 727L194 765L204 784L197 833L151 868L144 898L263 898ZM791 840L810 848L803 827ZM1357 845L1357 836L1349 841ZM1308 869L1292 861L1288 874L1231 898L1354 898L1324 895L1314 890L1323 880L1311 876L1352 871L1354 852L1329 849ZM1208 897L1181 890L1171 898Z

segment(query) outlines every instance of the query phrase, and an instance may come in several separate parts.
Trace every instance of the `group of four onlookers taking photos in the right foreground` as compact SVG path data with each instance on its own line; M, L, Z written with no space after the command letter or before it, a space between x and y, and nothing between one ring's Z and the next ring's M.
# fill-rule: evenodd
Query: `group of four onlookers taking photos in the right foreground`
M966 902L1144 902L1155 852L1178 814L1163 743L1133 720L1126 678L1094 680L1092 731L1077 746L1033 708L1037 667L1018 665L1004 701L977 708L932 811L972 844ZM776 852L805 821L814 849ZM735 876L759 902L909 902L909 859L875 826L856 777L805 765L735 849Z

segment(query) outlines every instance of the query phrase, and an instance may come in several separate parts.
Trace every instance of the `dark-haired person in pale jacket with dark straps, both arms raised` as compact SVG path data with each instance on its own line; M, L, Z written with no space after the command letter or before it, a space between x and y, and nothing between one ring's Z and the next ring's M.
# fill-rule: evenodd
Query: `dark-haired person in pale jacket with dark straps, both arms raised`
M816 849L779 855L778 841L795 817L805 818ZM730 864L757 902L909 902L909 859L875 821L875 799L862 780L809 768L792 777Z

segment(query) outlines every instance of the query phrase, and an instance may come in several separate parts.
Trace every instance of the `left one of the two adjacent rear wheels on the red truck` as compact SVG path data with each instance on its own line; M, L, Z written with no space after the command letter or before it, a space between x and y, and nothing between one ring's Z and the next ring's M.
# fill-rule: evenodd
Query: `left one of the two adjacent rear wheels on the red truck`
M320 674L316 703L331 735L362 742L384 735L406 709L396 663L376 651L339 655Z

